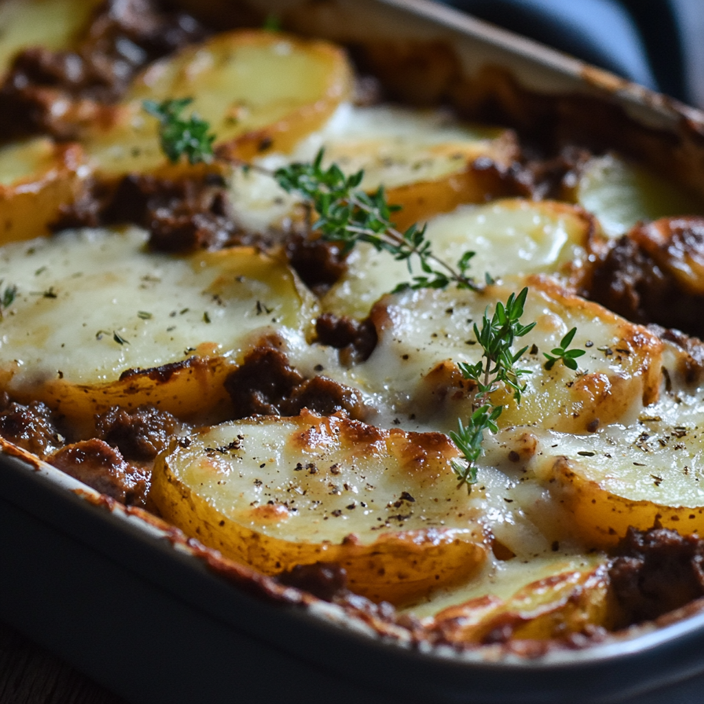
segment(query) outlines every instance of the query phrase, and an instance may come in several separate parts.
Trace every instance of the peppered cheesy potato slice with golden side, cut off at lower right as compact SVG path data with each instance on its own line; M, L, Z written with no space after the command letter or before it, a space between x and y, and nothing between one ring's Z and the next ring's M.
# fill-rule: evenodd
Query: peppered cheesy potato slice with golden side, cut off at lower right
M704 413L696 397L666 396L629 427L545 441L529 470L589 546L608 547L629 526L656 522L704 534Z

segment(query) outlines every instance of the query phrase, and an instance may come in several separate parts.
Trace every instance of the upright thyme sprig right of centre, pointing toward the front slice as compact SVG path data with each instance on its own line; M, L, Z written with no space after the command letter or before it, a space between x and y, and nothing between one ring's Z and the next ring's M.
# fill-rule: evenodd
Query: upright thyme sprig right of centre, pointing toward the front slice
M458 363L463 377L472 379L477 385L472 398L472 415L467 425L458 419L458 431L450 433L453 443L464 455L464 461L454 460L452 468L458 478L458 488L466 484L467 491L471 491L472 484L477 483L477 460L483 452L484 431L498 432L496 420L503 406L493 406L491 394L503 384L513 389L513 398L520 403L525 390L521 377L530 372L515 365L528 347L512 352L511 346L515 338L528 334L536 325L534 322L529 325L520 322L527 295L528 289L524 288L518 295L510 294L505 304L498 301L491 319L487 307L482 318L482 329L474 323L474 337L482 346L482 359L476 364Z

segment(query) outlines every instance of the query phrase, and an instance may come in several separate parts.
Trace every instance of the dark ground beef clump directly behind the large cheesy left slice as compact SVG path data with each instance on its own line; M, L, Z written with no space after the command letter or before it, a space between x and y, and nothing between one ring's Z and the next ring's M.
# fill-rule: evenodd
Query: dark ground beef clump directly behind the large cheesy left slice
M251 244L251 237L234 225L224 184L217 175L172 181L131 174L116 189L90 184L75 203L61 209L61 217L52 227L63 230L128 222L149 230L149 244L156 251Z

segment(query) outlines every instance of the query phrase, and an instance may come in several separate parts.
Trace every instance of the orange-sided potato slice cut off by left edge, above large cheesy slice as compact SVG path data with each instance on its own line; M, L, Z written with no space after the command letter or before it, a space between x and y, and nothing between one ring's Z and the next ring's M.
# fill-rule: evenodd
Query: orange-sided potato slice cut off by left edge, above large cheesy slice
M88 173L78 144L37 137L0 147L0 244L48 234Z

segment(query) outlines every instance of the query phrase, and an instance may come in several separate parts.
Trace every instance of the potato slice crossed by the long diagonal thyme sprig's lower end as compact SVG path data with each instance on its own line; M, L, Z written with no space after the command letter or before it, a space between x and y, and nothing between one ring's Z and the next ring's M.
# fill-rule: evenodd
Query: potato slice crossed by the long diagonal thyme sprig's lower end
M506 199L461 206L428 222L427 239L440 258L455 263L476 252L471 272L479 282L516 274L554 274L577 287L589 275L589 255L603 243L594 218L582 208L555 201ZM410 281L406 262L360 244L348 256L348 270L322 299L337 315L365 318L372 305L397 284ZM416 273L420 274L420 270Z

